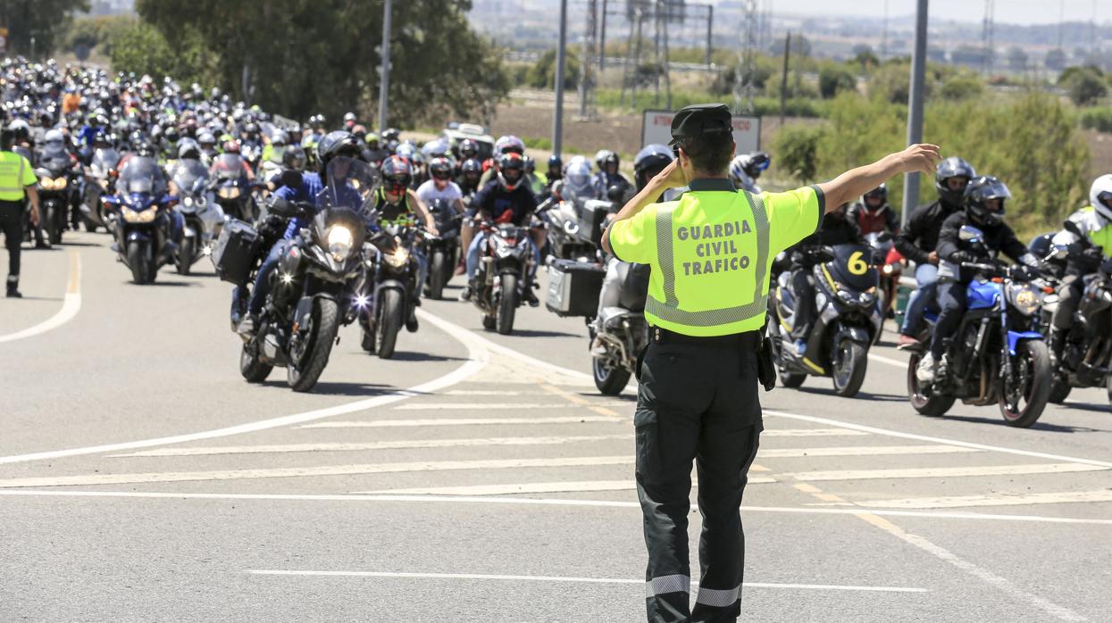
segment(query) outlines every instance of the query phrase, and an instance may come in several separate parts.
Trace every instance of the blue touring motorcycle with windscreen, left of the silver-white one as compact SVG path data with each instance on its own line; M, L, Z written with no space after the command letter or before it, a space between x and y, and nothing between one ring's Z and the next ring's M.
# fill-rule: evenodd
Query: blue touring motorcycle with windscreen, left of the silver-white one
M173 261L178 249L170 218L172 198L158 162L136 155L120 171L117 194L102 201L110 209L109 230L120 261L131 269L136 283L152 283L162 264ZM117 213L118 212L118 213Z

